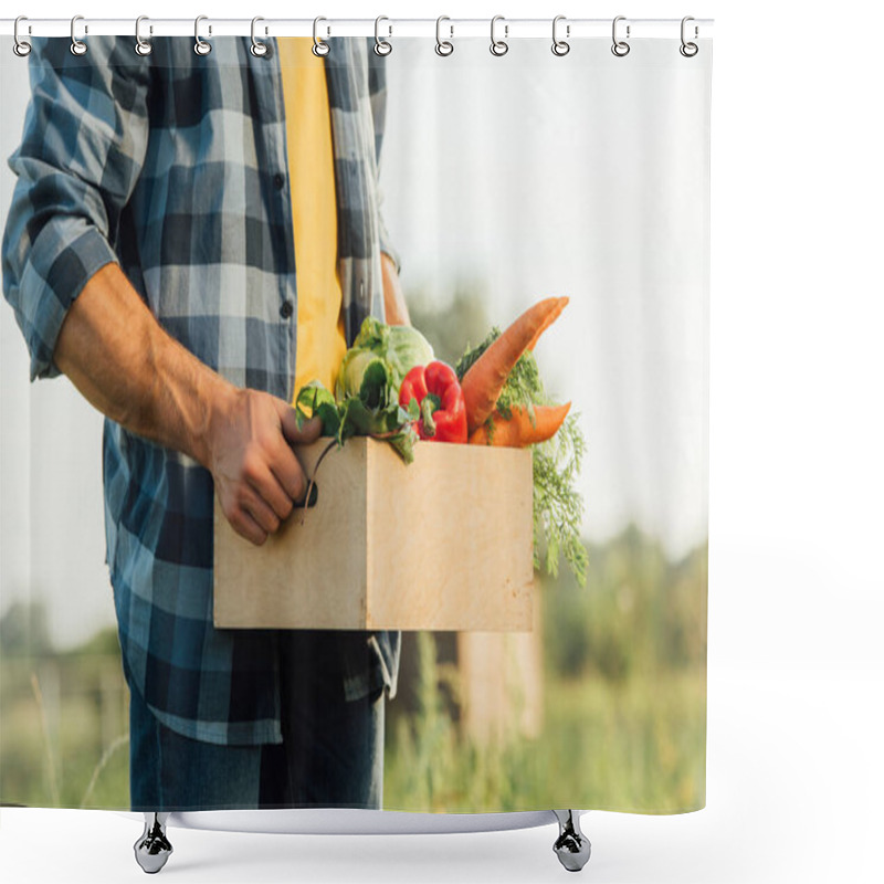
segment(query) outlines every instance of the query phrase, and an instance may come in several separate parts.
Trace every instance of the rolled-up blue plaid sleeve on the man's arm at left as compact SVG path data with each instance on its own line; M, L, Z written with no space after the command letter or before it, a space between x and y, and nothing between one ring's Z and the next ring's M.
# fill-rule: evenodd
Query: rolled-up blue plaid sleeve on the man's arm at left
M120 38L33 39L31 101L2 243L3 295L31 357L31 380L59 375L62 324L86 282L117 261L119 218L148 138L148 57ZM130 41L129 41L130 42Z

